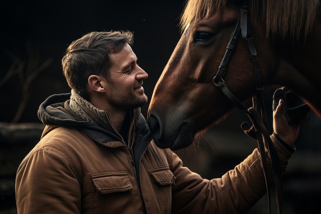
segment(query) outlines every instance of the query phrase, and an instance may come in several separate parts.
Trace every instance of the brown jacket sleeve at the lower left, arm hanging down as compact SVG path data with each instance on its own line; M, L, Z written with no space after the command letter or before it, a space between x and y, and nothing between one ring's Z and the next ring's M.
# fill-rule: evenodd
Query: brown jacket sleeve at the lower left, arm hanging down
M81 188L68 159L52 149L29 154L17 170L17 213L80 213Z

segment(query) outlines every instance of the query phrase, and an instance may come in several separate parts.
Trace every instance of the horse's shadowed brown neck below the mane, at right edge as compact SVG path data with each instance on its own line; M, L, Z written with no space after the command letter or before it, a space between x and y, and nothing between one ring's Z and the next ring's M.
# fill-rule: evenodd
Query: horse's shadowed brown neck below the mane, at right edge
M283 49L277 82L296 91L321 118L321 27L305 45Z

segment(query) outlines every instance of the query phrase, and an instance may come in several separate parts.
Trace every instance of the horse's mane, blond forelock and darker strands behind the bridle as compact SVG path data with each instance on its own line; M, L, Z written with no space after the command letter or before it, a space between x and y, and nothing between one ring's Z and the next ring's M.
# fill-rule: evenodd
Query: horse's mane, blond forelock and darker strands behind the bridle
M213 12L220 10L228 0L188 0L180 17L180 29L189 23L206 20ZM292 41L304 38L311 32L320 11L320 0L251 0L253 18L265 22L267 36L290 38Z

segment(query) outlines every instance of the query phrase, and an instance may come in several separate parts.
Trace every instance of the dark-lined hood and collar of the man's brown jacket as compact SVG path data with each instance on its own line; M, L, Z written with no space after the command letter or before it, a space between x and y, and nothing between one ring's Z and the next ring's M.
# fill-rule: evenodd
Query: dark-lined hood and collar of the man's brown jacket
M69 126L83 130L90 138L104 146L125 146L121 135L114 129L106 129L81 119L69 106L70 96L71 93L53 94L39 106L38 118L46 125L54 125L46 127L44 134L57 126ZM141 144L141 140L151 139L150 130L140 108L133 110L131 120L130 130L136 132L135 144ZM143 149L146 145L139 147Z

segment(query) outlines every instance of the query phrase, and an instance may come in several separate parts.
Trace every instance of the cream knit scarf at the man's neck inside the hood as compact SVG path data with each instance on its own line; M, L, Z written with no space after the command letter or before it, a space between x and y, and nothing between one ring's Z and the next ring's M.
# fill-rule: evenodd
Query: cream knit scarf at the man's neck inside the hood
M93 106L73 89L71 89L69 106L84 121L89 121L110 131L114 131L110 124L107 112Z

